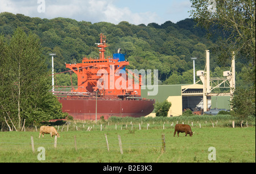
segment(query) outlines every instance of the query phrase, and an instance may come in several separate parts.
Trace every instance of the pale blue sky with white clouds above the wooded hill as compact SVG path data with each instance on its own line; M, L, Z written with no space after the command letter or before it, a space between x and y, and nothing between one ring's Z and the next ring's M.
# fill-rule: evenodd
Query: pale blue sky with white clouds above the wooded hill
M163 24L189 18L189 0L0 0L0 13L118 24Z

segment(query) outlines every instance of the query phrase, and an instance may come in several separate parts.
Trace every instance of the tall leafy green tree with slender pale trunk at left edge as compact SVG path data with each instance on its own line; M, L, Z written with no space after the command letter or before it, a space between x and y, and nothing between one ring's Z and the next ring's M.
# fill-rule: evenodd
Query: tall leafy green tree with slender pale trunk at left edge
M0 112L10 131L11 127L18 131L25 124L64 118L61 104L49 92L50 72L38 37L18 27L10 43L0 39L0 44Z

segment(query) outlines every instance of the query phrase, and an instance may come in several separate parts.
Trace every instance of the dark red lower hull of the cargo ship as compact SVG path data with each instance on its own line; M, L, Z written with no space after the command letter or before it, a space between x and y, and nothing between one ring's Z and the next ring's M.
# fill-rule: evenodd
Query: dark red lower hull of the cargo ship
M95 120L95 99L59 98L63 112L74 119ZM109 117L143 117L154 110L154 100L97 100L97 119Z

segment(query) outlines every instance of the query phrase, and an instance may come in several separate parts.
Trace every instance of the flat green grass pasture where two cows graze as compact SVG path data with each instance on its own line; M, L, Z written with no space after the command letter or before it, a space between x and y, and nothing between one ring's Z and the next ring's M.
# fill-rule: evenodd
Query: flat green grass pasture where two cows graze
M195 134L192 137L185 137L184 133L180 133L177 138L177 135L174 137L171 122L150 123L149 126L146 122L139 124L141 130L138 122L133 126L130 122L112 122L110 125L106 122L103 125L100 122L97 125L72 122L68 129L67 125L59 127L60 138L57 138L56 148L55 138L51 138L49 134L38 138L39 128L38 132L35 129L27 129L26 132L0 132L0 162L255 163L255 126L212 127L212 123L208 122L202 123L200 128L199 123L194 123L192 131ZM92 129L87 131L88 127ZM121 136L123 154L118 135ZM162 135L165 137L165 152L162 150ZM34 138L34 153L31 136ZM45 149L45 160L38 160L39 147ZM208 151L209 147L216 148L216 160L208 159L211 152Z

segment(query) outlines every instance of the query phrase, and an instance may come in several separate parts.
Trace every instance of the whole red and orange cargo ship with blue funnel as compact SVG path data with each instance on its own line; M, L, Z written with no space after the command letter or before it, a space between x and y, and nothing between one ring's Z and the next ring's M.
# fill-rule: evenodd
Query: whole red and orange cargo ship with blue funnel
M106 36L101 34L99 59L84 57L82 63L66 64L77 74L77 86L69 89L58 87L53 92L62 104L63 112L81 120L150 114L155 100L141 97L141 76L127 70L131 74L128 76L125 66L129 65L129 61L119 51L113 57L105 57L106 47Z

